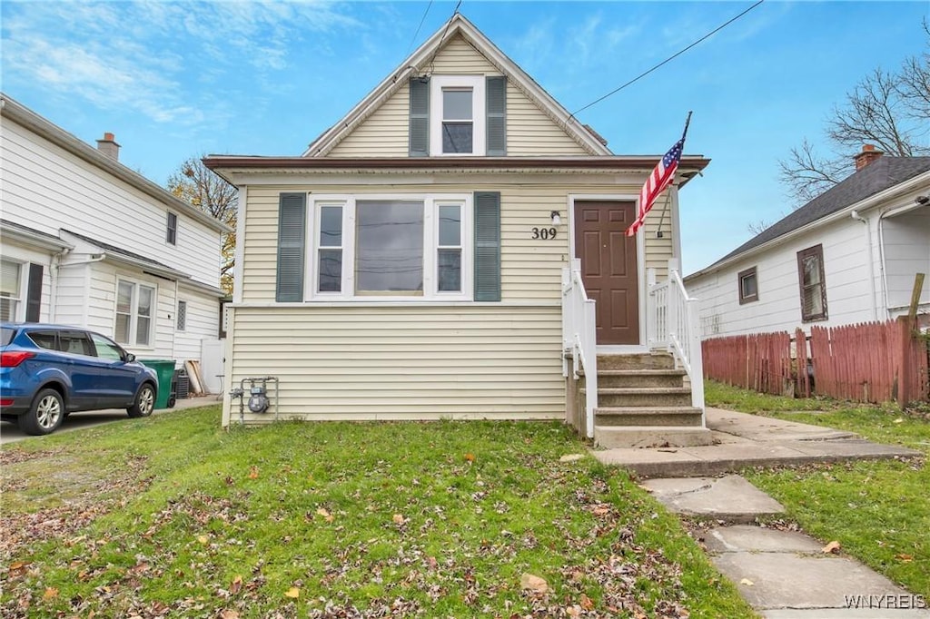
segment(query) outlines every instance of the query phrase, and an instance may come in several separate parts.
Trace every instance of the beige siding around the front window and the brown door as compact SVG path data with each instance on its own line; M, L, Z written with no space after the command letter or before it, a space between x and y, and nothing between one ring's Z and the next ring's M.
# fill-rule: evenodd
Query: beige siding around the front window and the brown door
M344 187L252 186L248 191L246 230L243 260L243 300L246 302L273 302L277 266L278 196L282 191L312 191L316 193L346 193ZM384 193L381 187L352 188L355 195L365 192ZM634 195L638 187L616 185L546 185L527 182L525 186L498 185L421 185L404 186L392 191L404 193L471 193L472 191L500 191L501 218L501 299L503 301L554 301L562 299L562 267L569 257L568 217L566 209L569 194ZM661 204L646 219L646 267L655 267L659 278L667 272L671 257L671 212L666 213L662 229L663 238L656 238ZM670 207L671 208L671 207ZM551 228L551 211L562 214L554 241L532 238L532 229ZM309 255L310 249L308 249ZM308 263L309 264L309 263Z

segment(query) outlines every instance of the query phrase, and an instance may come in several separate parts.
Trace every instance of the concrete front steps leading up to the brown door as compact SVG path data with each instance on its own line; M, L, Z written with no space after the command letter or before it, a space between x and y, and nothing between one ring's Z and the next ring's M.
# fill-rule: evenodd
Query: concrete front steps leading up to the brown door
M711 444L711 430L691 405L686 380L670 354L598 355L594 443L604 448ZM582 385L581 410L584 401Z

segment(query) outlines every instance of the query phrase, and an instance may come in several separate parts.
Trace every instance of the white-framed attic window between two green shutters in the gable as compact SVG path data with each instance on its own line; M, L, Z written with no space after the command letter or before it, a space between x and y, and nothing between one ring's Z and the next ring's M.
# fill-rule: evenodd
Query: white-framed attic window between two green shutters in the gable
M430 99L430 152L485 154L485 77L433 75Z

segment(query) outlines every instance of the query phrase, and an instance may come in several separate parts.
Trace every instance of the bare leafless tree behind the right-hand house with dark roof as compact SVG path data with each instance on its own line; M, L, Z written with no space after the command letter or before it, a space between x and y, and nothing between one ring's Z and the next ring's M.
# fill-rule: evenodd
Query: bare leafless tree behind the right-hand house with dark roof
M930 153L930 25L927 46L905 59L897 72L875 69L846 93L826 121L831 152L818 155L809 140L778 162L778 177L798 208L854 171L853 155L863 145L897 157Z

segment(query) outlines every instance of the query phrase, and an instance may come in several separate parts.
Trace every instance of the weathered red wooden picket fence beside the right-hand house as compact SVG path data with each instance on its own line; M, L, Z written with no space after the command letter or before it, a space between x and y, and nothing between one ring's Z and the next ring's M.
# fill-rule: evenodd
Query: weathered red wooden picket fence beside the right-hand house
M930 399L928 342L914 336L907 318L814 326L809 338L801 329L793 338L784 332L719 337L705 340L702 349L708 378L745 389L783 393L793 386L801 397L902 405Z

